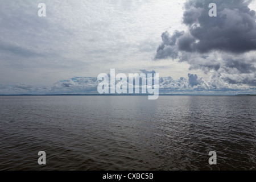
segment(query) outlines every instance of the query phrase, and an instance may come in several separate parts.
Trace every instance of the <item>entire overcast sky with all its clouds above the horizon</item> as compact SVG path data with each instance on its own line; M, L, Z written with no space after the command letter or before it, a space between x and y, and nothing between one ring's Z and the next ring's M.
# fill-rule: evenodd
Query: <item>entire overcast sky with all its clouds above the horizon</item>
M112 68L159 73L160 94L256 94L256 1L0 1L0 94L97 93Z

